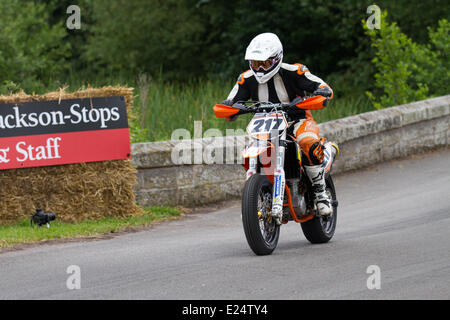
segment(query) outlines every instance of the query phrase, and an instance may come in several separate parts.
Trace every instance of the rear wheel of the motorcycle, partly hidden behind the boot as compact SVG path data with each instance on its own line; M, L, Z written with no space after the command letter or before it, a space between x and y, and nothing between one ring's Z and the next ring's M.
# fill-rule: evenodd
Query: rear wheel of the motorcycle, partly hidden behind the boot
M325 179L326 192L328 193L332 206L333 213L329 216L314 217L313 219L303 222L301 224L303 234L311 243L326 243L331 240L336 230L337 222L337 201L336 190L334 188L333 179L328 176Z

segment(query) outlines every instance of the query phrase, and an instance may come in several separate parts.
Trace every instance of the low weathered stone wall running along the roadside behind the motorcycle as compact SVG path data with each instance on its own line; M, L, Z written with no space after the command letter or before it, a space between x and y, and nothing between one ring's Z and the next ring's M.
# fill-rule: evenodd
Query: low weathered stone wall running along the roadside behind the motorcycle
M341 149L333 172L359 169L448 146L450 95L321 123L319 128L321 136ZM240 152L246 141L236 136L132 145L137 201L197 206L239 197L245 177Z

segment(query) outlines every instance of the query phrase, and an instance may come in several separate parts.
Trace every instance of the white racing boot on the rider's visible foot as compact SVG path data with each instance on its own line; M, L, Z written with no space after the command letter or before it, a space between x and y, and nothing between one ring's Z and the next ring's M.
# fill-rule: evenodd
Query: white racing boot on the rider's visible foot
M304 166L306 175L311 181L314 192L314 203L320 215L326 216L333 213L331 199L326 193L325 170L322 165Z

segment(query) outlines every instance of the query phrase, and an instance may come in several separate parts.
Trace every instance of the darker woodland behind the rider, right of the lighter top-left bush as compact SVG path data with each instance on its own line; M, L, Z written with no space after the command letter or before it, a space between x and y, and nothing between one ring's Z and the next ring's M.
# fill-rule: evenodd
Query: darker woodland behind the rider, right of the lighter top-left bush
M447 0L379 0L412 39L449 15ZM135 78L161 72L165 80L235 79L248 69L245 47L275 32L285 62L301 62L342 95L374 89L374 57L361 28L370 0L98 0L82 59L95 74ZM417 16L420 15L420 19Z

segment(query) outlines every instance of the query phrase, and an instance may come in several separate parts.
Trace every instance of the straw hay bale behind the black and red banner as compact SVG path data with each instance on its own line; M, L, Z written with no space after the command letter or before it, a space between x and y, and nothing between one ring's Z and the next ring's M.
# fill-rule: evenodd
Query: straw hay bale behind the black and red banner
M123 87L73 93L61 89L45 95L0 96L0 104L123 96L131 114L132 92ZM129 159L0 170L0 223L30 218L37 208L55 212L58 220L67 222L139 215L142 209L133 192L136 182Z

